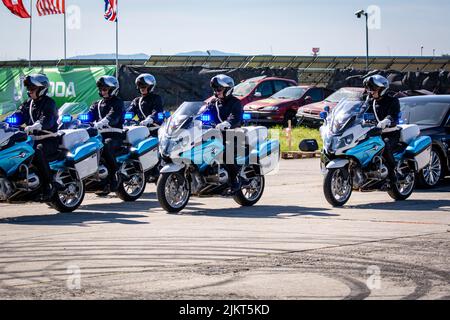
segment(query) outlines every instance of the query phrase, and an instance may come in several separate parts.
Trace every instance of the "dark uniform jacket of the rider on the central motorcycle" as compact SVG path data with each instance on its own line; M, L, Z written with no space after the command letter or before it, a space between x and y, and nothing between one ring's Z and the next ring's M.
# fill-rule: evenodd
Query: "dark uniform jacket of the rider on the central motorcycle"
M228 121L231 124L231 129L239 128L242 124L242 104L233 95L225 99L214 98L208 104L207 110L211 115L211 122L215 124Z

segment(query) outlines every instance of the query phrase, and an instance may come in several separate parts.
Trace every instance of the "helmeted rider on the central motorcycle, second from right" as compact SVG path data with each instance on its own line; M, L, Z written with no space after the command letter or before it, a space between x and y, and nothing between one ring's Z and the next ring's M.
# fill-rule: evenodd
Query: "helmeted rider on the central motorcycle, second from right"
M216 124L216 129L222 132L227 129L240 128L242 125L243 108L241 101L232 95L234 88L234 80L224 74L213 77L210 86L214 92L214 98L206 106L206 112L211 116L211 122ZM223 135L225 137L225 134ZM224 139L225 141L225 139ZM224 143L225 151L227 150L227 142ZM236 154L236 145L234 155ZM233 157L234 158L234 157ZM237 181L237 165L226 163L228 173L230 174L230 182L232 192L240 189L240 183Z

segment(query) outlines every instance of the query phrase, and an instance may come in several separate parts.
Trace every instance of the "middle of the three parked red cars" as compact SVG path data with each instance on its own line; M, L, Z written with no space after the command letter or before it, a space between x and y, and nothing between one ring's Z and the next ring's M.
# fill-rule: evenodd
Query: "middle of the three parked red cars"
M250 115L249 122L278 123L287 126L291 120L292 125L296 125L295 115L299 107L322 101L332 93L332 90L319 87L288 87L268 99L247 104L244 112Z

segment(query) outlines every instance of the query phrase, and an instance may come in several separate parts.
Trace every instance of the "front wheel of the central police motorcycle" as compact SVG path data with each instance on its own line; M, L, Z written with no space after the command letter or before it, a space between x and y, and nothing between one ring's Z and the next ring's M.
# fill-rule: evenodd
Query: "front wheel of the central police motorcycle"
M181 172L163 173L156 184L156 194L164 210L177 213L189 202L190 184Z

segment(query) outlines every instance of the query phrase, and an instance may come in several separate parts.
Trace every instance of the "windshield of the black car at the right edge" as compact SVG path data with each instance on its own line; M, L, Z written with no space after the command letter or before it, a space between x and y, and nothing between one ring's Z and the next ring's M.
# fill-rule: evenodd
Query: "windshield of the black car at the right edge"
M401 122L439 126L450 109L450 102L401 101Z

